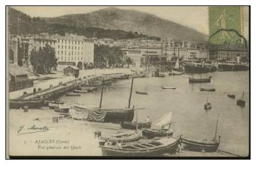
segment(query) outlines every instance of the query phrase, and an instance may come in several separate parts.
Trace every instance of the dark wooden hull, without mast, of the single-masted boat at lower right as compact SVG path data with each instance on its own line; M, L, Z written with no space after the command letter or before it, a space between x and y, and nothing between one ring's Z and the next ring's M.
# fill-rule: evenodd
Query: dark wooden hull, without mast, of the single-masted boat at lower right
M197 142L194 140L182 139L182 143L186 145L186 148L192 151L206 151L215 152L219 148L220 141L213 143Z

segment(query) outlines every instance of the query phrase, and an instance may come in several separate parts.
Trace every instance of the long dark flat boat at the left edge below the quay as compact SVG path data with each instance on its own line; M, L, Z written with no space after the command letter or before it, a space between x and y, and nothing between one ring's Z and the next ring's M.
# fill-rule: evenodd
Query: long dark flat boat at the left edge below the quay
M27 106L28 109L38 109L40 107L43 107L45 104L45 100L39 99L39 100L23 100L23 99L14 99L9 100L9 109L20 109L24 106Z

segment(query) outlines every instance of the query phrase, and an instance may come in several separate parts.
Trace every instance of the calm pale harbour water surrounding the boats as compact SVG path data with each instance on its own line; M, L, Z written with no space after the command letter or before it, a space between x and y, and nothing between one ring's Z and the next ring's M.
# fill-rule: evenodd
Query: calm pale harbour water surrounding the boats
M136 110L138 121L147 116L154 121L167 112L173 112L175 135L183 134L190 139L213 139L217 114L219 126L217 134L221 136L220 148L238 155L247 155L249 151L249 72L214 72L211 83L189 83L189 75L149 77L134 79L131 106L145 108ZM119 80L112 84L119 88L105 88L102 108L125 108L128 106L131 79ZM175 86L176 89L162 89L162 86ZM216 92L201 92L199 88L216 88ZM148 92L148 95L135 94L135 91ZM236 100L227 94L235 94L236 99L245 91L245 107L236 105ZM61 97L66 103L99 105L101 90L81 94L81 97ZM204 103L213 104L205 111ZM136 115L134 116L134 120Z

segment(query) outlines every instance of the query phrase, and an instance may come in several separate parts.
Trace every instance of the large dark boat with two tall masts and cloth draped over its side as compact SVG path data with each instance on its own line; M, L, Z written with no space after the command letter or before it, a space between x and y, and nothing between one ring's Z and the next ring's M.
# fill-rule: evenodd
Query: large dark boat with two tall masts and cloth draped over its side
M133 80L131 82L131 92L129 98L128 109L102 109L102 96L103 89L101 90L101 101L99 103L99 108L87 108L74 106L70 111L71 116L83 115L83 119L87 121L96 121L96 122L112 122L112 123L120 123L120 122L131 122L134 118L134 107L130 109L131 104L131 95L133 91Z

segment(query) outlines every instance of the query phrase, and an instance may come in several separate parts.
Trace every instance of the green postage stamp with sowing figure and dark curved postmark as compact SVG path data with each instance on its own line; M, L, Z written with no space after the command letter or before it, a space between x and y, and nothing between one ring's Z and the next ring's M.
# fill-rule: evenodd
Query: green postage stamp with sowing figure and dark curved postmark
M243 35L242 10L243 8L241 6L208 7L210 43L234 44L241 42L241 37L238 34Z

